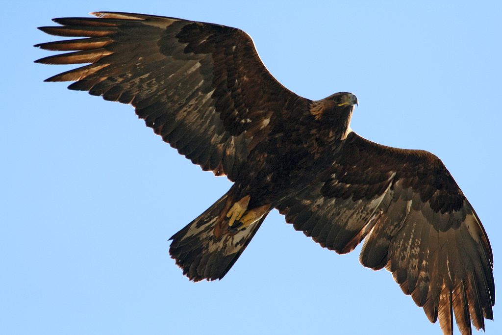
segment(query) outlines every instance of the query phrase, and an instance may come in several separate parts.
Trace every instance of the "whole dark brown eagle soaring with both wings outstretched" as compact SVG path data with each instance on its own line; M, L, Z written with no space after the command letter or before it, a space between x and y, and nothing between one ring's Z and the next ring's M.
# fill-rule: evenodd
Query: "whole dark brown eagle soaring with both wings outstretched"
M350 127L357 98L298 96L267 70L252 39L221 25L130 13L54 19L70 51L37 60L84 65L46 79L129 103L155 134L232 187L172 238L190 280L221 279L277 208L339 254L391 271L405 294L453 332L484 329L493 255L476 212L439 158L370 142Z

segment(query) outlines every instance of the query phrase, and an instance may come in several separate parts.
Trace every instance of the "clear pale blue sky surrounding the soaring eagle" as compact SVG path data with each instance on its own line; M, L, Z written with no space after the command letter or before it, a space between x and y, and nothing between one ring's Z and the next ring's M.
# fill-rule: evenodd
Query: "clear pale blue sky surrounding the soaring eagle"
M312 99L359 98L352 129L439 156L502 272L500 2L4 2L0 333L429 334L389 272L339 256L277 211L219 282L194 284L168 239L230 187L178 155L128 105L34 64L50 19L123 11L238 27L272 74ZM500 302L487 334L502 333ZM457 331L457 329L455 329Z

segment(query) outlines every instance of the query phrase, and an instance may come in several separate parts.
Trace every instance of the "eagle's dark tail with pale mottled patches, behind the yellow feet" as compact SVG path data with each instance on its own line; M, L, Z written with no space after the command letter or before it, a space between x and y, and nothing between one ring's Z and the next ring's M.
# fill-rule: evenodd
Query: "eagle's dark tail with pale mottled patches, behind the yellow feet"
M268 214L267 211L245 229L228 230L228 194L223 195L170 239L173 241L169 248L171 258L176 260L176 265L183 270L183 274L194 282L223 278Z

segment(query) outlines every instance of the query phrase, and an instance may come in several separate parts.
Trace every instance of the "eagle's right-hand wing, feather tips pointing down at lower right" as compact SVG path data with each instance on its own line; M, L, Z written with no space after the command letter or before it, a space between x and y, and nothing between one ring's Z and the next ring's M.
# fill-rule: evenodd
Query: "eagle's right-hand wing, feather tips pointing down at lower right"
M441 160L426 151L372 143L350 133L330 171L277 208L321 246L386 267L405 294L452 333L484 329L494 304L488 238Z

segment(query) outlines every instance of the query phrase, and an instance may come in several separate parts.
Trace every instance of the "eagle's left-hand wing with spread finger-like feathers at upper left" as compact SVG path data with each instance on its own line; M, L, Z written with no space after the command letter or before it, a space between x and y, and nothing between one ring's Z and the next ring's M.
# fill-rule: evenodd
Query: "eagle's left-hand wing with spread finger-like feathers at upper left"
M37 44L74 52L37 60L91 63L46 81L76 81L105 100L131 103L148 127L203 170L235 180L279 112L300 97L266 69L252 39L235 28L129 13L54 19L57 36Z

